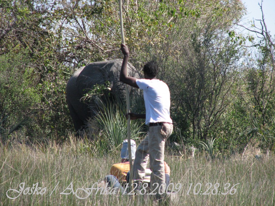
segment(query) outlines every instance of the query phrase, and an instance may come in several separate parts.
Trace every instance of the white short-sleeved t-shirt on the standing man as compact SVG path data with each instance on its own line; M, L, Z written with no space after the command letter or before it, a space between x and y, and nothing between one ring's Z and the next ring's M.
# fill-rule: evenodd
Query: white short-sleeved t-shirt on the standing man
M150 122L170 122L170 91L158 79L137 79L137 86L143 90L146 109L145 124Z

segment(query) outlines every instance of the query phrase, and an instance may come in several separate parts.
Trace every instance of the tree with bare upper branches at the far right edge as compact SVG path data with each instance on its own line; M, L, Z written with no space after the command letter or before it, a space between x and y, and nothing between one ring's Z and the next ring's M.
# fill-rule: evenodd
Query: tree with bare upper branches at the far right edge
M274 148L274 97L275 97L275 44L265 23L262 3L261 27L252 24L252 28L244 27L257 35L249 38L247 56L245 57L245 75L247 96L250 100L252 121L248 127L249 138L256 137L262 147Z

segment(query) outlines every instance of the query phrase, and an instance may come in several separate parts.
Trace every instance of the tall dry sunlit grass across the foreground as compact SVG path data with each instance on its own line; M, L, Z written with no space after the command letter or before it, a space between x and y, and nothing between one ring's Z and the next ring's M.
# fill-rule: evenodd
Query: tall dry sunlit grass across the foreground
M121 194L104 195L100 191L95 194L95 190L87 195L78 189L100 182L109 174L111 165L119 161L118 152L103 157L85 152L82 140L71 139L62 145L53 142L47 146L1 145L0 205L157 205L141 196L133 199ZM168 152L165 161L171 169L170 183L182 186L175 198L167 199L167 205L275 205L272 152L268 158L263 155L259 160L253 155L209 159L199 152L195 158L180 159ZM29 194L24 195L19 187L19 184L23 187L23 183L24 190L37 186L39 194L32 194L33 188L33 191L25 190ZM36 183L38 185L34 185ZM229 190L232 195L221 194ZM60 194L62 192L70 194ZM18 197L10 199L7 195Z

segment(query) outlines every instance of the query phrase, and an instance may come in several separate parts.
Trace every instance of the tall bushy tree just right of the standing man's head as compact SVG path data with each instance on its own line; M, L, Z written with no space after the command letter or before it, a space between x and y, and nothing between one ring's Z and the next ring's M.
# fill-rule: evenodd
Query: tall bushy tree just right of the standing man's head
M182 3L166 18L171 32L151 53L161 62L160 78L169 84L177 126L187 137L206 139L239 88L243 38L233 29L243 7L239 1Z

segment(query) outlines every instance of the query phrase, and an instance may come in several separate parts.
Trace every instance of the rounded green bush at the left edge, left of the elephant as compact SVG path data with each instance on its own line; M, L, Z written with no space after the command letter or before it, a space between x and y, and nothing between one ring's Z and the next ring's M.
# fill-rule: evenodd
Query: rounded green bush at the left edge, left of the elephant
M26 51L0 56L0 135L28 124L40 102Z

